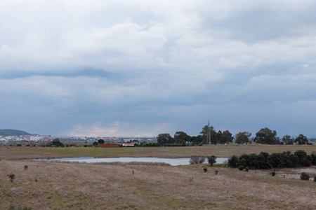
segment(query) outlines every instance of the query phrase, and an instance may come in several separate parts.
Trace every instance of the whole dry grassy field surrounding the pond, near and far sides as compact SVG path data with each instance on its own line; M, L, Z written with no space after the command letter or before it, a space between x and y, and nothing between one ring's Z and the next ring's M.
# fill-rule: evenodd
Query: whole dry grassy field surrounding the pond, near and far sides
M277 169L271 176L271 169L246 172L225 164L171 167L32 160L79 156L230 157L298 150L310 155L315 146L1 147L0 209L315 209L316 183L300 178L302 172L316 176L315 166Z

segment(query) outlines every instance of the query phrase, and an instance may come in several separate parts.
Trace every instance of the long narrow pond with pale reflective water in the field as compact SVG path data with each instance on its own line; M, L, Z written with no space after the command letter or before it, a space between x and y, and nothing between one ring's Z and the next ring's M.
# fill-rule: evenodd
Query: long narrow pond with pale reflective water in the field
M170 165L190 165L190 158L93 158L93 157L82 157L82 158L55 158L55 159L37 159L44 161L69 161L69 162L165 162ZM216 158L216 163L225 163L228 158ZM205 162L207 163L207 159Z

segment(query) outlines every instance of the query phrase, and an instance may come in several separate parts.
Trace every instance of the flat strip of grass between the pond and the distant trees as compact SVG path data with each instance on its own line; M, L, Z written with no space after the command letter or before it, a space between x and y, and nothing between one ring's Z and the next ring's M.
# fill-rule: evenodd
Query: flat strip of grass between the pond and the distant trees
M227 158L244 153L280 153L303 150L310 154L316 146L185 146L185 147L136 147L136 148L42 148L42 147L0 147L0 159L18 160L33 158L75 158L75 157L158 157L190 158L192 155Z

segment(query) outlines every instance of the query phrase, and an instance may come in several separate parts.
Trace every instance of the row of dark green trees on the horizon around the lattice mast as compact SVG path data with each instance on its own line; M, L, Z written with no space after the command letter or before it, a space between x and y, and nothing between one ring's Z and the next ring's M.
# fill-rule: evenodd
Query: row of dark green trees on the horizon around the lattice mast
M256 133L256 137L251 138L250 132L239 132L233 137L228 130L223 132L218 130L218 132L216 132L213 126L209 127L208 125L205 125L199 135L192 137L183 131L176 132L173 137L168 133L159 134L157 137L157 146L206 144L209 131L211 133L211 144L230 144L232 142L237 144L309 144L307 137L303 134L300 134L296 138L285 135L282 139L279 139L279 137L277 137L277 132L268 129L268 127L262 128Z

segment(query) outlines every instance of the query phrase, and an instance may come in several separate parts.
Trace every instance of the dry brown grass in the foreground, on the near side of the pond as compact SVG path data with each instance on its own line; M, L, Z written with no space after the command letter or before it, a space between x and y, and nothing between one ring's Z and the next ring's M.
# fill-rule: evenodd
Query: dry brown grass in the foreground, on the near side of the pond
M0 209L316 208L316 183L299 180L299 174L283 178L269 171L208 169L0 161Z

